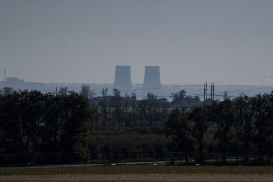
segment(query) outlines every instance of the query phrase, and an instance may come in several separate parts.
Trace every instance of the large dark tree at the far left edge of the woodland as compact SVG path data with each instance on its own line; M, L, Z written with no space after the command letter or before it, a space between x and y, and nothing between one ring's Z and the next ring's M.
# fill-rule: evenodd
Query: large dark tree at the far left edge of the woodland
M14 91L3 98L2 128L6 141L12 141L14 153L29 153L29 143L35 143L37 127L44 111L43 94L39 91Z

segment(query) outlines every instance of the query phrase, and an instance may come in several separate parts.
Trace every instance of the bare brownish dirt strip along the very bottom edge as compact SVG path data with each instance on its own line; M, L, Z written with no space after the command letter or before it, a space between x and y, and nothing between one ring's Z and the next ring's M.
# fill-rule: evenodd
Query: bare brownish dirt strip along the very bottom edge
M273 181L272 174L266 175L223 175L223 174L194 174L194 175L31 175L31 176L0 176L0 181L20 182L52 182L52 181Z

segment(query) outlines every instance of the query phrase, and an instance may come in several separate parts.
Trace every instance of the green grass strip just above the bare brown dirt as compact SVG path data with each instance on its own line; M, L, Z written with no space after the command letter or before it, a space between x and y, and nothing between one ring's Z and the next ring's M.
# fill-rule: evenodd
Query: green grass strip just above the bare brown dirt
M0 175L55 174L273 174L273 166L73 165L0 168Z

